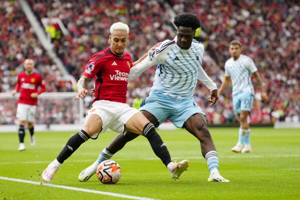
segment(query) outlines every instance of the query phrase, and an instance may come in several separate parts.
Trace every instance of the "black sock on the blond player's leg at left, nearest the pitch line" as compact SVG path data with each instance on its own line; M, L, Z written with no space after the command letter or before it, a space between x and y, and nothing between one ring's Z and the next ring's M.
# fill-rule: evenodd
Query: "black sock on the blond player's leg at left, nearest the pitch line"
M68 157L72 155L72 153L74 153L74 151L78 149L78 147L80 147L82 143L84 143L88 139L90 139L90 136L84 130L76 133L68 140L66 146L63 148L56 159L60 163L63 163L66 159L68 159Z

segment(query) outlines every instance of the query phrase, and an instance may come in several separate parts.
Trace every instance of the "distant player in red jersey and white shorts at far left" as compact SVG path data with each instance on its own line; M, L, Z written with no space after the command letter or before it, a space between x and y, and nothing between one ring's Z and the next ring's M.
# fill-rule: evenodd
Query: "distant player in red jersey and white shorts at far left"
M24 137L25 125L27 123L30 132L30 144L34 146L36 139L34 136L34 120L38 105L38 96L46 91L43 77L34 72L35 63L33 59L26 59L24 62L25 72L18 75L17 85L12 95L15 96L20 90L20 97L17 107L17 118L19 120L19 151L25 150ZM40 90L38 91L38 88Z

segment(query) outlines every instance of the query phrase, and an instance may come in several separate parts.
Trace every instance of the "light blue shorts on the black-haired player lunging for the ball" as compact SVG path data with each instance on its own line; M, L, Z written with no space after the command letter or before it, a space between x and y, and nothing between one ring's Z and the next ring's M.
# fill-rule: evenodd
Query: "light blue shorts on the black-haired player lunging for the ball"
M176 100L163 94L151 94L143 99L139 111L146 110L153 114L158 127L166 119L170 120L176 127L183 128L186 120L195 113L205 116L203 110L194 99Z

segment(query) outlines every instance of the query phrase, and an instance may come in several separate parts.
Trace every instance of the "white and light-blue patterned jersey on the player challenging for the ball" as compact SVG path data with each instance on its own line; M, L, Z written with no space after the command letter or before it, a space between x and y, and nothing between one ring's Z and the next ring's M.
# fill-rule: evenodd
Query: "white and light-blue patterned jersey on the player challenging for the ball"
M204 46L196 40L188 50L179 48L176 40L166 40L155 51L150 50L148 58L131 68L129 80L159 64L149 95L161 93L178 100L193 99L197 79L209 90L217 89L201 67L203 53Z

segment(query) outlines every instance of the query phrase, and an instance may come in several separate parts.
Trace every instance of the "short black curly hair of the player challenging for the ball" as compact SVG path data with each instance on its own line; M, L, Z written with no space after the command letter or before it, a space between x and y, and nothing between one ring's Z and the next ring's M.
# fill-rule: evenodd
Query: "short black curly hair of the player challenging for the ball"
M177 27L191 27L193 30L201 27L198 17L191 13L178 14L174 18L174 24Z

